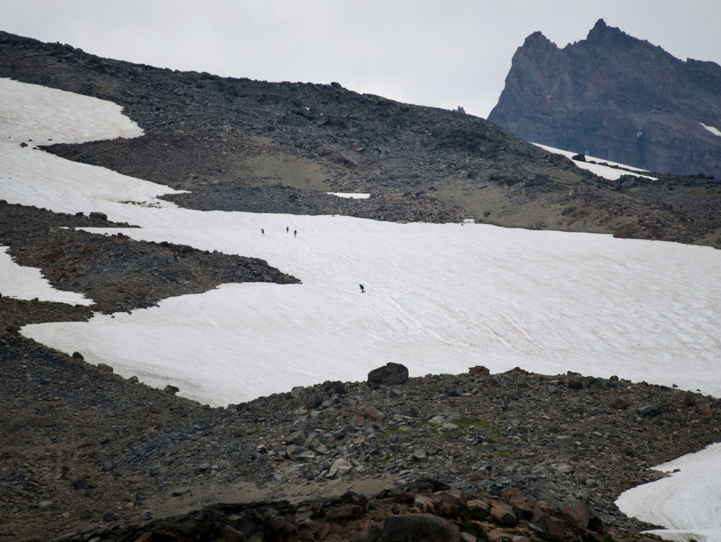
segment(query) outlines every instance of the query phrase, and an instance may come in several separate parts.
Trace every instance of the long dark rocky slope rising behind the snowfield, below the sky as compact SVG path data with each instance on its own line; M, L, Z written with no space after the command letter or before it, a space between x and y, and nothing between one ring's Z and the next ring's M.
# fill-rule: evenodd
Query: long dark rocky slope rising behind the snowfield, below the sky
M169 71L7 33L0 34L0 77L123 105L146 136L48 150L192 191L174 198L195 209L473 218L721 246L721 199L700 195L717 193L715 182L611 182L481 118L337 83ZM371 198L338 202L325 191Z

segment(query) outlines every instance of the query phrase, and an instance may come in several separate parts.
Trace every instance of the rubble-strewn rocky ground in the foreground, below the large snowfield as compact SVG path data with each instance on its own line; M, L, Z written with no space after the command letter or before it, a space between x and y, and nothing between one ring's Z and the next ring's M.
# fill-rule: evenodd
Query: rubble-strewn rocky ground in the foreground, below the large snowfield
M615 497L719 439L721 401L616 377L391 364L209 408L80 353L0 346L7 541L391 541L402 514L456 533L431 540L624 540L648 525Z

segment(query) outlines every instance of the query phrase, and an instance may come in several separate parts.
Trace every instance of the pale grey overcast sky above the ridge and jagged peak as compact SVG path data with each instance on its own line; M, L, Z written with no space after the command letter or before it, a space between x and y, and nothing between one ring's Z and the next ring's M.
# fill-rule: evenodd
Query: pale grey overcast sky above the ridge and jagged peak
M721 64L719 0L0 0L0 30L99 56L357 92L486 117L523 40L596 21Z

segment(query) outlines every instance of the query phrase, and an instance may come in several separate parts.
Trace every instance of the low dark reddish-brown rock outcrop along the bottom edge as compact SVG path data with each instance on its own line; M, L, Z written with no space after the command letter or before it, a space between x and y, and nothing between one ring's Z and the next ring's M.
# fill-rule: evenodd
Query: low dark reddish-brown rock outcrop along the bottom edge
M501 508L514 518L512 523L505 516L496 517L494 511ZM489 501L458 490L426 493L406 487L386 489L370 499L348 492L299 504L215 504L131 528L68 533L54 542L482 542L510 537L514 542L644 540L606 528L587 501L554 508L520 491Z

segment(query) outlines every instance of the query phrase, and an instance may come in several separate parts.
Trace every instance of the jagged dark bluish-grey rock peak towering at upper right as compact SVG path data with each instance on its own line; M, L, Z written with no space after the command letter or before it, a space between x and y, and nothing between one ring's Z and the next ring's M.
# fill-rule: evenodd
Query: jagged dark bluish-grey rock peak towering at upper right
M678 60L600 19L559 49L541 32L513 56L488 116L536 143L676 174L721 176L721 66Z

